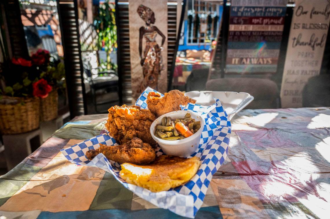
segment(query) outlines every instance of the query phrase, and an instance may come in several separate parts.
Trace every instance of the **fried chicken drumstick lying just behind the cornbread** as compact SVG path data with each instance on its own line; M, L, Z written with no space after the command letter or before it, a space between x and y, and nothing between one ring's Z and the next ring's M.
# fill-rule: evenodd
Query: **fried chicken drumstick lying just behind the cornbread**
M100 153L104 154L109 160L118 163L149 164L156 158L155 150L137 137L133 137L132 140L122 145L107 146L100 144L98 149L87 151L86 157L91 160Z

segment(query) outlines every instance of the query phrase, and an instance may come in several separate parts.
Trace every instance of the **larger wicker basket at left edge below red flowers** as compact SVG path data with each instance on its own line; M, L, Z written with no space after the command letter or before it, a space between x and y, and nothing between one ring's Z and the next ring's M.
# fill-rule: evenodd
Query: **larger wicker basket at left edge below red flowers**
M0 101L0 131L20 134L39 128L39 98L5 96Z

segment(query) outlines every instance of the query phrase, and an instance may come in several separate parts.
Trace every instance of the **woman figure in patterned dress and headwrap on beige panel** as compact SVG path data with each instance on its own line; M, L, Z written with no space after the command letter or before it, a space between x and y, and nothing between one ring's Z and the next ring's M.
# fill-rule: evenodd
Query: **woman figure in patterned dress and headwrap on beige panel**
M141 65L143 68L143 80L138 89L138 94L143 92L147 86L157 89L158 75L160 74L163 63L162 54L163 44L166 37L156 26L151 24L155 23L154 12L144 6L140 5L137 10L139 16L146 22L145 26L140 28L140 39L139 39L139 53L141 59ZM157 33L163 38L161 47L156 42ZM142 57L142 40L146 39L146 48L144 49Z

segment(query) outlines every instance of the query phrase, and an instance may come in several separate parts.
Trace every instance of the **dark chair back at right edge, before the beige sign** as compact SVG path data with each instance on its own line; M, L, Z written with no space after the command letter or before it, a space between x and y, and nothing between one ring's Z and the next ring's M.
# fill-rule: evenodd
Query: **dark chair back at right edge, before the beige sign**
M330 75L310 78L303 89L303 107L330 107Z

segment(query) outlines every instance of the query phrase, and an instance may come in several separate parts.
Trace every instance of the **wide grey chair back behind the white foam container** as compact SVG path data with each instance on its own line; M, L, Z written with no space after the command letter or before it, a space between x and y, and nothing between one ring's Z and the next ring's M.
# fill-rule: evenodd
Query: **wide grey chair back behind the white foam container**
M279 108L279 89L275 82L263 78L219 78L206 83L206 90L247 92L254 97L248 109Z

